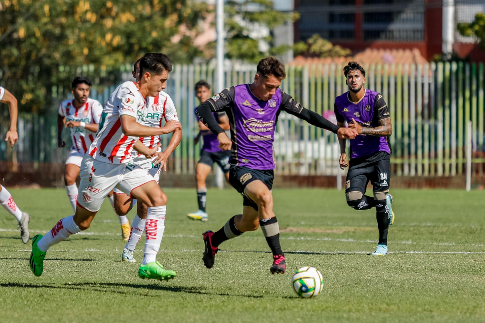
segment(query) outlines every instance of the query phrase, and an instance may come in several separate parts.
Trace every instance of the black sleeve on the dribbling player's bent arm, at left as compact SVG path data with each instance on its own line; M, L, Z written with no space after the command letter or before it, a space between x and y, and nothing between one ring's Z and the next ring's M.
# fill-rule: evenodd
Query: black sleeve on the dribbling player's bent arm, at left
M224 129L219 126L219 123L214 118L213 112L223 112L234 103L235 91L234 87L223 90L221 93L216 94L204 103L198 106L195 110L195 114L215 134L224 132Z

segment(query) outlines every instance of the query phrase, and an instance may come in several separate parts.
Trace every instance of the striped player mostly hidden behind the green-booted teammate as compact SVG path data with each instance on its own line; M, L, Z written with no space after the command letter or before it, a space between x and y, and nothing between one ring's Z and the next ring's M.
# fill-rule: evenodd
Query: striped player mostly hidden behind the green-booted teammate
M138 80L140 76L140 60L141 59L136 61L133 66L132 74L135 80ZM165 86L166 84L162 85L162 90L165 89ZM165 123L170 120L178 121L174 102L170 96L163 91L161 91L156 97L146 98L146 111L146 127L162 128L163 119L165 119ZM160 136L140 137L140 141L150 149L157 146L160 143L160 140ZM162 147L159 146L156 157L147 159L143 154L133 151L133 160L131 162L145 169L148 174L150 174L157 181L158 184L160 181L160 170L162 168L164 171L167 170L167 160L180 143L180 140L182 140L182 129L176 128L173 131L170 143L165 150L162 151ZM158 160L159 162L154 163L154 160ZM132 198L130 196L123 193L121 190L116 188L114 189L114 206L118 215L126 216L133 204L134 203L132 202ZM135 250L138 241L140 241L143 231L145 231L147 212L148 206L146 206L146 204L143 202L137 204L137 213L131 222L129 240L123 249L121 256L123 261L136 261L133 257L133 251Z

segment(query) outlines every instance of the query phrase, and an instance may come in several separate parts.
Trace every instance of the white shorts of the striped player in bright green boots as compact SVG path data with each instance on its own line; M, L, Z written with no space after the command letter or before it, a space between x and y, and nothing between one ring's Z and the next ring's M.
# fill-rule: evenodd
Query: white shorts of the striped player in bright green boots
M91 212L97 212L101 203L114 188L131 196L131 191L152 180L152 175L132 162L112 164L97 161L84 155L80 172L78 204Z

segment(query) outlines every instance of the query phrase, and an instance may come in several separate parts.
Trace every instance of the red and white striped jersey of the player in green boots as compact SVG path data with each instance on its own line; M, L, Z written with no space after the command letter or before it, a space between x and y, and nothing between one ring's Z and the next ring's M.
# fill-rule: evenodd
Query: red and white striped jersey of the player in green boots
M145 97L135 82L120 84L104 106L96 138L89 148L89 154L94 159L113 164L127 163L131 160L131 151L138 137L123 134L121 115L132 116L142 125L145 123Z

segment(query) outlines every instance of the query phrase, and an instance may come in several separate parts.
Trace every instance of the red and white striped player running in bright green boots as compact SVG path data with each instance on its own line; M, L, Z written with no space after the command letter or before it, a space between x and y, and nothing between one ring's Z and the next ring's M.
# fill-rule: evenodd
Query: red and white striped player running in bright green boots
M81 194L76 213L59 220L45 236L32 238L30 267L34 275L42 275L49 247L89 228L104 198L115 187L148 206L145 254L138 276L167 280L177 275L156 261L165 229L167 196L146 170L131 162L133 148L147 157L159 148L147 148L139 137L181 129L174 120L163 128L142 125L146 118L145 98L159 95L171 70L172 63L166 55L145 54L140 61L140 79L136 83L124 82L114 90L103 108L97 136L81 162Z

